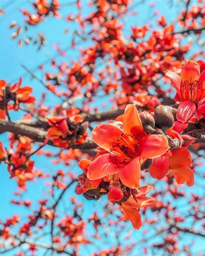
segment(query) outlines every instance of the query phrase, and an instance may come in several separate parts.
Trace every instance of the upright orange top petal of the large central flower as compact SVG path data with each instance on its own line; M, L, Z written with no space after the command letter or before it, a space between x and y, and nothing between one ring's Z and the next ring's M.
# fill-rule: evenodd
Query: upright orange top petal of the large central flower
M123 117L123 129L127 134L146 134L143 130L141 119L135 105L129 104L125 108Z

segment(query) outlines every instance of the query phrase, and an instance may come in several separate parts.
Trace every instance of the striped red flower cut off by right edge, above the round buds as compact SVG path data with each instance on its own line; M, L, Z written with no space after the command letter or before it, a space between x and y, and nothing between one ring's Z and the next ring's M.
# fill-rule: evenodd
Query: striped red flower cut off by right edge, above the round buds
M177 91L176 100L181 101L176 114L178 121L175 122L174 128L181 132L195 113L197 119L205 117L205 70L200 74L199 64L188 61L183 66L180 76L171 71L166 71L166 75Z

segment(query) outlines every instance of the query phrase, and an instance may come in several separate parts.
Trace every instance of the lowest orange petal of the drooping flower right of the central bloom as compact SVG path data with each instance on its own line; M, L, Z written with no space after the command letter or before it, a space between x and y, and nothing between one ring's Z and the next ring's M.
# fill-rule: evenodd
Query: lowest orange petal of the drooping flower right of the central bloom
M170 169L169 173L173 173L178 184L183 184L186 181L187 186L194 185L194 173L189 167L180 167Z

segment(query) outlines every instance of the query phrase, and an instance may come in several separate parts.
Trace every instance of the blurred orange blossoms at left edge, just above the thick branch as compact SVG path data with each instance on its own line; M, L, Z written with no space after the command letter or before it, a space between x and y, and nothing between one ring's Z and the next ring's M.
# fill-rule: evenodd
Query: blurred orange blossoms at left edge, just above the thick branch
M35 102L35 97L31 96L33 89L29 86L21 87L22 79L18 83L6 83L0 80L0 118L5 119L7 110L19 110L19 104L29 104ZM8 104L13 101L13 104Z

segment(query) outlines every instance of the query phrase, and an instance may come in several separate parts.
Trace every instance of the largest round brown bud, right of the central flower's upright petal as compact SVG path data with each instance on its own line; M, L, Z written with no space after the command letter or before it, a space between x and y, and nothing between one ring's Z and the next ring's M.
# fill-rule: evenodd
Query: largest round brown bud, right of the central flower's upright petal
M160 128L163 131L173 126L174 123L174 117L172 112L163 105L156 107L154 111L154 120L157 128Z

